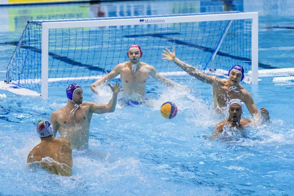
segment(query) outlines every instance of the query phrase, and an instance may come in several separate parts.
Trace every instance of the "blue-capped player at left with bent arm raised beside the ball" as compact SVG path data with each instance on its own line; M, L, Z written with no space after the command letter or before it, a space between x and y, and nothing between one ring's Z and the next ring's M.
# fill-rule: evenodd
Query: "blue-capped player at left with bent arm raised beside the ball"
M67 105L52 112L50 121L61 137L68 138L75 149L87 149L89 146L89 131L93 113L103 114L114 112L118 93L122 87L116 82L114 86L108 84L113 92L108 104L83 102L83 89L78 84L70 84L66 89Z

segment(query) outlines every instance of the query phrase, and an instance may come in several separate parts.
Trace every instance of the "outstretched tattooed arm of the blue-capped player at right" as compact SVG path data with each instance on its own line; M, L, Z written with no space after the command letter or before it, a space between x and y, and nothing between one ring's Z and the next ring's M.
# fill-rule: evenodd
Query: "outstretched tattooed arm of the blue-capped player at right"
M214 75L207 75L203 72L200 72L199 70L197 70L195 67L193 67L192 65L189 65L188 63L184 63L183 61L181 61L180 59L178 59L175 56L175 51L173 48L173 51L171 52L169 49L166 48L167 51L163 50L164 53L162 53L163 56L165 56L165 58L162 58L163 60L169 60L174 62L177 66L179 66L182 70L184 70L185 72L187 72L188 74L196 77L198 80L208 83L208 84L212 84L214 81L218 80L218 77L214 76Z

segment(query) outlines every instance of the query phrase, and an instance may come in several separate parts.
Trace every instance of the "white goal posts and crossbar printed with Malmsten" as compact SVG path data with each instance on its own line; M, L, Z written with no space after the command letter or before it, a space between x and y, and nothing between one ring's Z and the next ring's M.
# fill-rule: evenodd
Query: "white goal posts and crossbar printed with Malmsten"
M172 15L172 16L140 16L136 18L109 18L109 19L83 19L71 21L70 19L51 20L42 22L42 59L41 59L41 97L48 98L49 79L49 29L51 28L75 28L75 27L99 27L99 26L123 26L146 25L143 21L152 21L152 24L231 21L252 19L251 26L251 84L258 84L258 12L238 13L210 13L199 15ZM213 66L213 65L212 65Z

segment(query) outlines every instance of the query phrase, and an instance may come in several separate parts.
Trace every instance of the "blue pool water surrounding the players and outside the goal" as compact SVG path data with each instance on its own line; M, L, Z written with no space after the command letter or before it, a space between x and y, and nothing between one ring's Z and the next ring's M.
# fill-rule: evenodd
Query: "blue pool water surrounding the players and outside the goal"
M56 5L0 7L1 21L14 21L14 25L2 25L1 42L18 41L24 18L72 18L67 9L74 9L74 17L101 15L98 10L107 16L123 15L128 13L127 6L137 6L145 14L259 11L259 61L278 68L293 67L294 34L286 28L294 25L290 0L254 6L250 0L234 0L232 6L210 0L183 2L159 1L163 11L158 10L157 1L60 4L58 13L50 16L36 10L56 10ZM22 13L27 14L22 18ZM0 79L4 80L14 47L1 44L0 51ZM269 110L272 123L246 130L246 137L228 132L212 141L206 137L225 116L212 109L210 85L190 76L171 79L189 85L190 93L149 79L146 105L118 104L114 113L94 114L89 150L73 150L71 177L25 165L27 154L40 142L36 122L67 103L65 89L56 87L47 100L16 97L1 90L6 98L0 98L0 195L294 195L294 81L275 83L271 76L262 77L258 86L243 84L257 107ZM100 87L99 96L93 96L90 83L82 86L84 101L107 103L111 98L107 85ZM172 120L160 115L165 101L178 107ZM247 110L244 117L250 118Z

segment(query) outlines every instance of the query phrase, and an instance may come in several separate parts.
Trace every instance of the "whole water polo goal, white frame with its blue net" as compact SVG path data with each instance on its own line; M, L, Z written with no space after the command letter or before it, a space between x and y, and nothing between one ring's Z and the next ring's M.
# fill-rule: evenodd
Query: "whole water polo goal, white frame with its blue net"
M141 61L166 77L185 74L163 61L162 50L209 74L226 76L233 65L257 83L258 13L224 12L123 18L30 21L7 68L6 82L48 97L54 86L90 85L138 44Z

